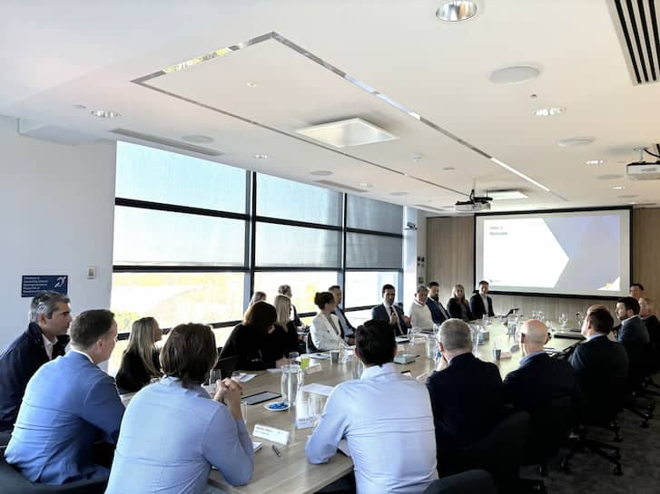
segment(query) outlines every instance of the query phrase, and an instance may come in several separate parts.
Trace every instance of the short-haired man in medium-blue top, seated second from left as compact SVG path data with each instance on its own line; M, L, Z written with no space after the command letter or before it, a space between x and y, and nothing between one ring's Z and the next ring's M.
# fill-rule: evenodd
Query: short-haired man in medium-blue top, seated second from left
M71 351L45 363L27 384L7 463L33 482L60 485L107 476L94 465L94 441L116 442L123 404L114 379L98 368L113 352L117 323L91 310L71 325Z

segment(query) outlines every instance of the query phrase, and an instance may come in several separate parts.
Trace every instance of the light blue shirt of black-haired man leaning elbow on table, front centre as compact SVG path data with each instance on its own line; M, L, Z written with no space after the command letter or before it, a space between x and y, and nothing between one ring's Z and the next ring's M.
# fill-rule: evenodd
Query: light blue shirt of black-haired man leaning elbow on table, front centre
M330 394L307 442L310 463L325 463L348 441L358 494L421 494L438 479L429 392L393 363L365 369Z

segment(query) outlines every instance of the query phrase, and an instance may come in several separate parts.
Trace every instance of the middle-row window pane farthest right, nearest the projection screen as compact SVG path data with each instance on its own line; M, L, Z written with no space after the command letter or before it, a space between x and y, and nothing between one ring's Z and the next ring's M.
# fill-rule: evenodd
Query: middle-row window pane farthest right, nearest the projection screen
M346 234L346 267L400 269L403 239L362 233Z

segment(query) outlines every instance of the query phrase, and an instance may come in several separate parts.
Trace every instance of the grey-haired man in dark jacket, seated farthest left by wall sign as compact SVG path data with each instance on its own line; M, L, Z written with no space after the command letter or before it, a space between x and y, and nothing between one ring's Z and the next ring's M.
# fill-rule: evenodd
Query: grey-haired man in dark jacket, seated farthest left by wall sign
M0 432L11 431L25 386L44 363L64 355L71 324L69 297L58 292L37 294L30 303L30 324L0 354Z

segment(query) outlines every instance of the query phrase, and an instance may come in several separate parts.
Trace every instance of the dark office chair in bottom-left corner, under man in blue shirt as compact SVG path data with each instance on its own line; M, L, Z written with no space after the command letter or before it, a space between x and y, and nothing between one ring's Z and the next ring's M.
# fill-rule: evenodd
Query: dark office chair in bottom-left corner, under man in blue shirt
M5 451L0 450L0 489L11 494L103 494L108 478L80 480L61 486L37 484L23 475L5 460Z

